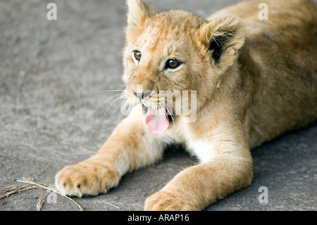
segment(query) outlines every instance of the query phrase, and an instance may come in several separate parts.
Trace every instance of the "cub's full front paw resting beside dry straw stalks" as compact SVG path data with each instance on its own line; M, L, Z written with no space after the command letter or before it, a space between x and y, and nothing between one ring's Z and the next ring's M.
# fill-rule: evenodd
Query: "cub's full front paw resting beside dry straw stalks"
M64 195L82 197L106 193L119 183L119 174L105 166L76 164L65 166L55 176L56 188Z

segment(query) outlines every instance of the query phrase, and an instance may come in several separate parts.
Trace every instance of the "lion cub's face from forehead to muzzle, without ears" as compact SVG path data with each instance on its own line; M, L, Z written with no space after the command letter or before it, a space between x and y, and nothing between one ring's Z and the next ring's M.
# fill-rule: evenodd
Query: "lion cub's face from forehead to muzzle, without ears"
M160 99L160 93L161 97L162 93L176 97L183 90L199 88L197 84L204 79L199 65L204 64L204 57L192 38L197 36L199 23L195 23L197 18L191 19L183 11L159 13L148 18L142 30L128 35L132 37L125 49L128 99L138 101L140 96L135 93L145 93L142 103L160 108L171 103Z

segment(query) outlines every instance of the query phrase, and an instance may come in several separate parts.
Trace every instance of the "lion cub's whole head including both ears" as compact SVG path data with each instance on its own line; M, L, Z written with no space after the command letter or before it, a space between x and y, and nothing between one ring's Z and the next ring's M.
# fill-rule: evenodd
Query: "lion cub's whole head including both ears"
M178 98L188 99L186 104L193 107L193 99L183 97L195 92L194 107L199 109L211 97L243 43L244 25L236 16L207 21L187 11L156 13L143 1L128 0L125 95L130 102L142 102L148 114L149 110L164 114L149 116L150 122L159 123L164 117L171 122L177 111L184 113L184 102ZM153 133L168 127L168 122L162 123L163 128Z

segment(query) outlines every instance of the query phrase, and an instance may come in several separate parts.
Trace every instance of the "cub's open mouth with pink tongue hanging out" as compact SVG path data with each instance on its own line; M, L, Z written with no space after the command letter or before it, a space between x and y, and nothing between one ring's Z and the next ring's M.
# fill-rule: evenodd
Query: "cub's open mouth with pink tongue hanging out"
M151 109L143 105L143 111L146 114L145 126L154 135L163 135L174 121L173 110L168 106Z

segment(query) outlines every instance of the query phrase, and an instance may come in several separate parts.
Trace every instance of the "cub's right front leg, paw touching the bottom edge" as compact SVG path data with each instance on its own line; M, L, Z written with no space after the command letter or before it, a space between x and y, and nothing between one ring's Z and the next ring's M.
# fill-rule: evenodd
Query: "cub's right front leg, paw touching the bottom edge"
M247 143L230 138L199 140L197 151L212 155L175 176L159 192L149 196L146 210L201 210L226 195L249 186L253 178ZM211 154L209 154L209 152Z

